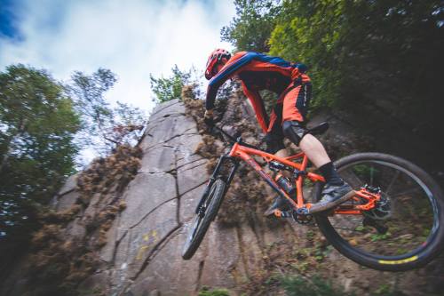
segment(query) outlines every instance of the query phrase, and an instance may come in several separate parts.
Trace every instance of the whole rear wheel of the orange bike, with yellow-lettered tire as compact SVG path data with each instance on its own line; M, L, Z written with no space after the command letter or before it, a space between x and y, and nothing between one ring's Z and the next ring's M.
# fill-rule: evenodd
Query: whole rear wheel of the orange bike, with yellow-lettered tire
M380 153L359 153L335 163L337 172L354 189L380 190L376 207L348 211L363 204L354 197L335 212L317 215L329 242L355 262L388 271L424 266L442 250L444 197L432 177L404 159ZM314 196L321 198L321 184Z

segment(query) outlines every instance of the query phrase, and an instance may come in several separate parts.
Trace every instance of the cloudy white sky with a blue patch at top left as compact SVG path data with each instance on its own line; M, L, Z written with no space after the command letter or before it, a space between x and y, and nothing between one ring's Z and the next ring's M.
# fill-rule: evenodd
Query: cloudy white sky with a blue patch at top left
M118 82L107 100L149 111L150 74L203 70L212 50L231 50L220 29L234 13L220 0L0 0L0 71L22 63L67 82L109 68Z

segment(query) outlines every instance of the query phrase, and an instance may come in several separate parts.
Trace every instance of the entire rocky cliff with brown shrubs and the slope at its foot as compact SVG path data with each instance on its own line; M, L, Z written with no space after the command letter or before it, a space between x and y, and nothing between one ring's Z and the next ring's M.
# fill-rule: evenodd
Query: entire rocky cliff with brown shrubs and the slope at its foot
M274 295L282 293L279 276L295 274L324 276L345 291L359 294L439 294L444 283L442 260L407 273L378 272L361 268L333 250L315 226L264 219L261 212L271 192L245 167L238 177L245 186L241 187L240 179L234 181L218 220L212 223L198 252L192 260L182 260L186 230L214 165L213 155L223 149L220 141L202 135L202 102L184 100L186 104L171 100L155 108L139 152L128 152L130 162L119 161L117 153L114 159L97 164L99 173L95 177L91 173L71 177L54 198L52 206L66 219L50 224L58 226L52 235L58 240L46 234L40 244L46 242L53 245L51 250L65 254L61 258L69 268L63 269L59 263L61 269L55 273L64 270L66 276L52 283L29 276L30 270L42 262L38 258L49 260L55 256L47 245L34 248L4 280L2 295L60 291L83 295L195 295L204 286L226 288L233 295ZM242 120L251 116L249 106L237 95L229 100L224 120L230 125L228 130L242 128L243 136L254 141L256 128L248 124L249 119ZM313 122L324 118L315 117ZM338 120L335 125L325 136L329 147L353 150L349 140L335 137L340 128L343 137L350 139L353 128ZM103 166L107 162L120 169L109 173L112 168ZM125 177L129 168L135 171ZM112 178L104 180L103 176L109 174ZM88 188L87 181L95 187ZM84 196L89 197L85 200ZM42 250L47 250L45 257L36 257ZM29 259L37 263L29 264ZM47 272L51 264L45 268L39 270Z

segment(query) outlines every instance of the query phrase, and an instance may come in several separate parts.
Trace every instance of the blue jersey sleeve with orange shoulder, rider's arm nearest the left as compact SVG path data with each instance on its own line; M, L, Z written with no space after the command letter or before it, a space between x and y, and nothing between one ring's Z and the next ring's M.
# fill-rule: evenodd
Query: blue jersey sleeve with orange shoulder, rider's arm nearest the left
M256 52L238 52L234 54L232 59L228 60L224 68L220 69L218 75L211 78L205 100L205 108L207 110L214 108L214 100L220 85L224 84L230 76L234 76L240 68L248 64L257 55L258 53Z

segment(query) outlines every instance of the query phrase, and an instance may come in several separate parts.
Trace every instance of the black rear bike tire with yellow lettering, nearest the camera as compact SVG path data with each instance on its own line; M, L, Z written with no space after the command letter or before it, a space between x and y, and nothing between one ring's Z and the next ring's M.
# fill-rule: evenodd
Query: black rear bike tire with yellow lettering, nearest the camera
M337 229L332 226L330 220L333 220L332 217L335 215L329 216L325 213L320 213L314 217L318 227L321 229L321 233L329 240L329 243L332 244L337 251L344 254L345 257L363 266L385 271L405 271L413 268L423 267L425 264L438 256L443 249L444 196L440 186L427 172L424 172L424 170L416 166L416 164L412 164L397 156L381 153L358 153L352 156L345 156L344 158L337 160L335 165L337 167L337 172L341 174L341 169L351 167L353 164L361 164L363 162L375 162L377 164L389 165L393 168L397 168L400 170L400 172L409 173L408 176L413 178L413 180L416 180L422 187L424 186L424 192L429 190L429 193L427 193L427 198L432 205L433 224L430 234L427 235L426 241L423 243L424 245L420 244L413 251L402 255L387 256L379 255L373 252L365 252L360 247L353 246L349 241L341 236L341 230L337 231ZM362 186L363 185L364 184L362 184ZM317 182L313 188L313 196L317 201L321 199L322 187L323 184ZM346 217L346 215L343 217ZM411 219L415 218L412 216L410 217ZM337 217L337 219L343 218ZM406 223L407 222L408 221L406 221ZM415 238L416 237L411 240L413 241Z

